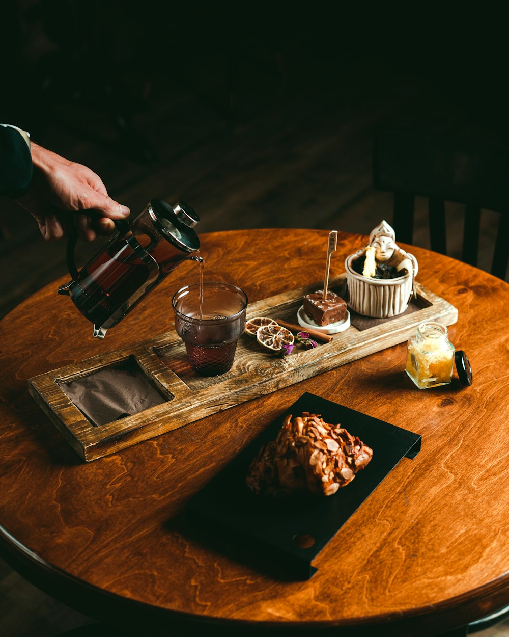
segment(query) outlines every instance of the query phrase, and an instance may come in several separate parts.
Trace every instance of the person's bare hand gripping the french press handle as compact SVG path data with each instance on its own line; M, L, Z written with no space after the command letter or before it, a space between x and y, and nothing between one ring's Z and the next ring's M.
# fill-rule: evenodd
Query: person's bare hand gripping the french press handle
M76 219L80 238L94 241L111 234L114 220L129 216L129 208L113 201L101 178L90 168L31 145L34 173L30 188L17 201L31 213L46 240L69 233ZM80 211L80 214L74 214ZM83 213L87 211L87 213Z

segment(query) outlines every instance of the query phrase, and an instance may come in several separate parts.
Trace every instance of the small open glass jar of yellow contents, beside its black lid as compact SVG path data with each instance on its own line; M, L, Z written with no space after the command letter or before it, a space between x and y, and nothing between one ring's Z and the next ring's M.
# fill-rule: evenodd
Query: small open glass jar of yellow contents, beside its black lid
M406 371L419 389L450 383L454 345L448 334L440 323L421 323L414 338L408 340Z

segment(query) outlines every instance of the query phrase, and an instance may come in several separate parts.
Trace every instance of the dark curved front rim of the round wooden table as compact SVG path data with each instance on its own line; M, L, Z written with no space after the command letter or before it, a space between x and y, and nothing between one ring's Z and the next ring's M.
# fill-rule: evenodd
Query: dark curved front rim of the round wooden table
M84 613L89 617L99 620L108 620L112 617L118 619L123 617L126 627L139 626L146 627L146 622L150 621L154 627L160 627L167 631L169 622L172 629L177 629L180 625L182 629L188 630L194 627L218 627L221 634L227 635L225 631L232 631L232 635L238 635L242 629L245 636L250 634L249 629L254 631L263 630L268 634L274 632L282 634L284 631L296 629L337 629L341 628L344 635L350 633L356 636L359 634L384 634L384 629L392 637L407 634L409 627L416 629L422 627L427 629L429 624L436 627L436 619L440 617L444 630L464 626L466 622L482 619L497 610L509 605L509 571L504 576L485 583L465 595L449 598L440 604L433 604L421 608L412 608L408 612L393 612L382 615L373 615L368 618L355 618L340 621L317 621L317 622L270 622L270 621L250 621L245 619L230 619L225 617L193 615L171 608L154 606L136 599L129 599L118 594L101 589L93 584L81 580L74 575L51 564L51 562L39 557L29 548L16 540L3 526L0 525L0 557L6 561L11 568L15 569L27 581L38 587L46 594L58 599L67 606ZM504 583L506 584L504 586ZM476 598L476 599L474 599ZM113 612L112 612L113 611ZM458 620L461 621L458 623ZM442 628L441 628L442 630ZM246 633L246 631L248 631ZM359 632L360 631L360 632ZM259 633L257 633L259 634ZM414 634L420 634L420 631ZM429 634L424 631L423 634Z

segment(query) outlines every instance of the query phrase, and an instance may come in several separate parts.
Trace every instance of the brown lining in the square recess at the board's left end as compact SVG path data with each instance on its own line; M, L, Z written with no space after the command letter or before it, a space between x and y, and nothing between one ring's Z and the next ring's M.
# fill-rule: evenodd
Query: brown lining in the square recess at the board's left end
M96 427L167 401L130 360L59 385Z

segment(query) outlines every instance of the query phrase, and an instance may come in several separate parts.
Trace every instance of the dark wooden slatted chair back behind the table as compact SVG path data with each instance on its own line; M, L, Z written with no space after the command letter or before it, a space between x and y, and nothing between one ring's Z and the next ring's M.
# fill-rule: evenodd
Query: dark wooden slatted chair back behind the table
M447 254L445 202L464 204L462 260L477 265L481 211L500 213L491 273L506 276L509 147L431 127L386 125L373 137L373 183L394 193L396 236L412 243L414 197L428 198L431 250Z

